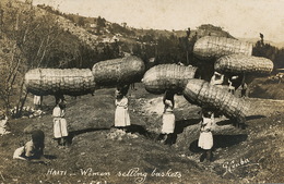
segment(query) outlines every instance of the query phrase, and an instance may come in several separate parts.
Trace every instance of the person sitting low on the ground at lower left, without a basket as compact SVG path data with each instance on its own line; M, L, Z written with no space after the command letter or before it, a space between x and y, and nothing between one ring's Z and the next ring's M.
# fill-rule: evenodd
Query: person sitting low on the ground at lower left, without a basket
M47 163L44 157L45 134L43 131L34 131L32 139L14 151L13 159Z

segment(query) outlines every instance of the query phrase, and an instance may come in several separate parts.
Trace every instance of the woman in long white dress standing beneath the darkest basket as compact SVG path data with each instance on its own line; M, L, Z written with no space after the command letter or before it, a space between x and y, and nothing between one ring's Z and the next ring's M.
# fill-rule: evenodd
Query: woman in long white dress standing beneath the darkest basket
M128 98L121 90L116 90L116 112L115 112L115 127L127 131L131 125L128 112Z

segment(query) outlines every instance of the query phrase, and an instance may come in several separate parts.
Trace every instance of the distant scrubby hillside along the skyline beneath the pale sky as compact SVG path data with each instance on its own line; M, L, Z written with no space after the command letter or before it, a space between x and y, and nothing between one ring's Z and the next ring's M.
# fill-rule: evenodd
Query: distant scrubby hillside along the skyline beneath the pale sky
M78 14L64 14L55 10L51 7L46 7L44 4L37 5L42 10L46 10L52 14L58 15L60 17L60 22L62 22L61 26L64 29L70 30L72 34L75 34L82 41L90 41L90 45L93 47L94 42L115 42L121 41L123 44L152 44L158 37L186 37L187 28L185 30L159 30L159 29L139 29L134 27L127 26L127 23L122 23L121 25L117 23L111 23L105 20L104 17L85 17ZM82 28L87 30L87 33L83 32ZM212 36L224 36L224 37L233 37L229 33L223 30L221 27L216 27L210 24L204 24L197 29L191 28L191 33L189 38L192 38L197 34L198 38L212 35ZM85 36L84 36L85 35ZM95 35L95 36L94 36ZM146 37L146 38L145 38ZM128 50L122 50L128 51Z

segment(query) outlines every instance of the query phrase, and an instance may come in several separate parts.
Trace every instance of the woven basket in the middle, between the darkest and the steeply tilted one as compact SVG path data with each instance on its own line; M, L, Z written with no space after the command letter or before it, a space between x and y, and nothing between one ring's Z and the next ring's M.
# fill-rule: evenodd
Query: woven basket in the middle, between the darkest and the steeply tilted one
M143 84L152 94L164 94L167 89L182 91L188 79L198 75L197 70L191 65L159 64L146 71Z

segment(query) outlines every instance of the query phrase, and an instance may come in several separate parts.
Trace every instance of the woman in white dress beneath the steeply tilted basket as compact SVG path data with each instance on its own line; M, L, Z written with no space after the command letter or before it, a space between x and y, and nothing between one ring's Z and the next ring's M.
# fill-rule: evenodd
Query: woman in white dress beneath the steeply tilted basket
M213 135L211 127L214 123L214 114L209 110L202 109L202 120L200 127L200 136L198 146L203 149L203 154L200 157L200 161L204 161L206 158L209 161L213 160L212 147L213 147Z

